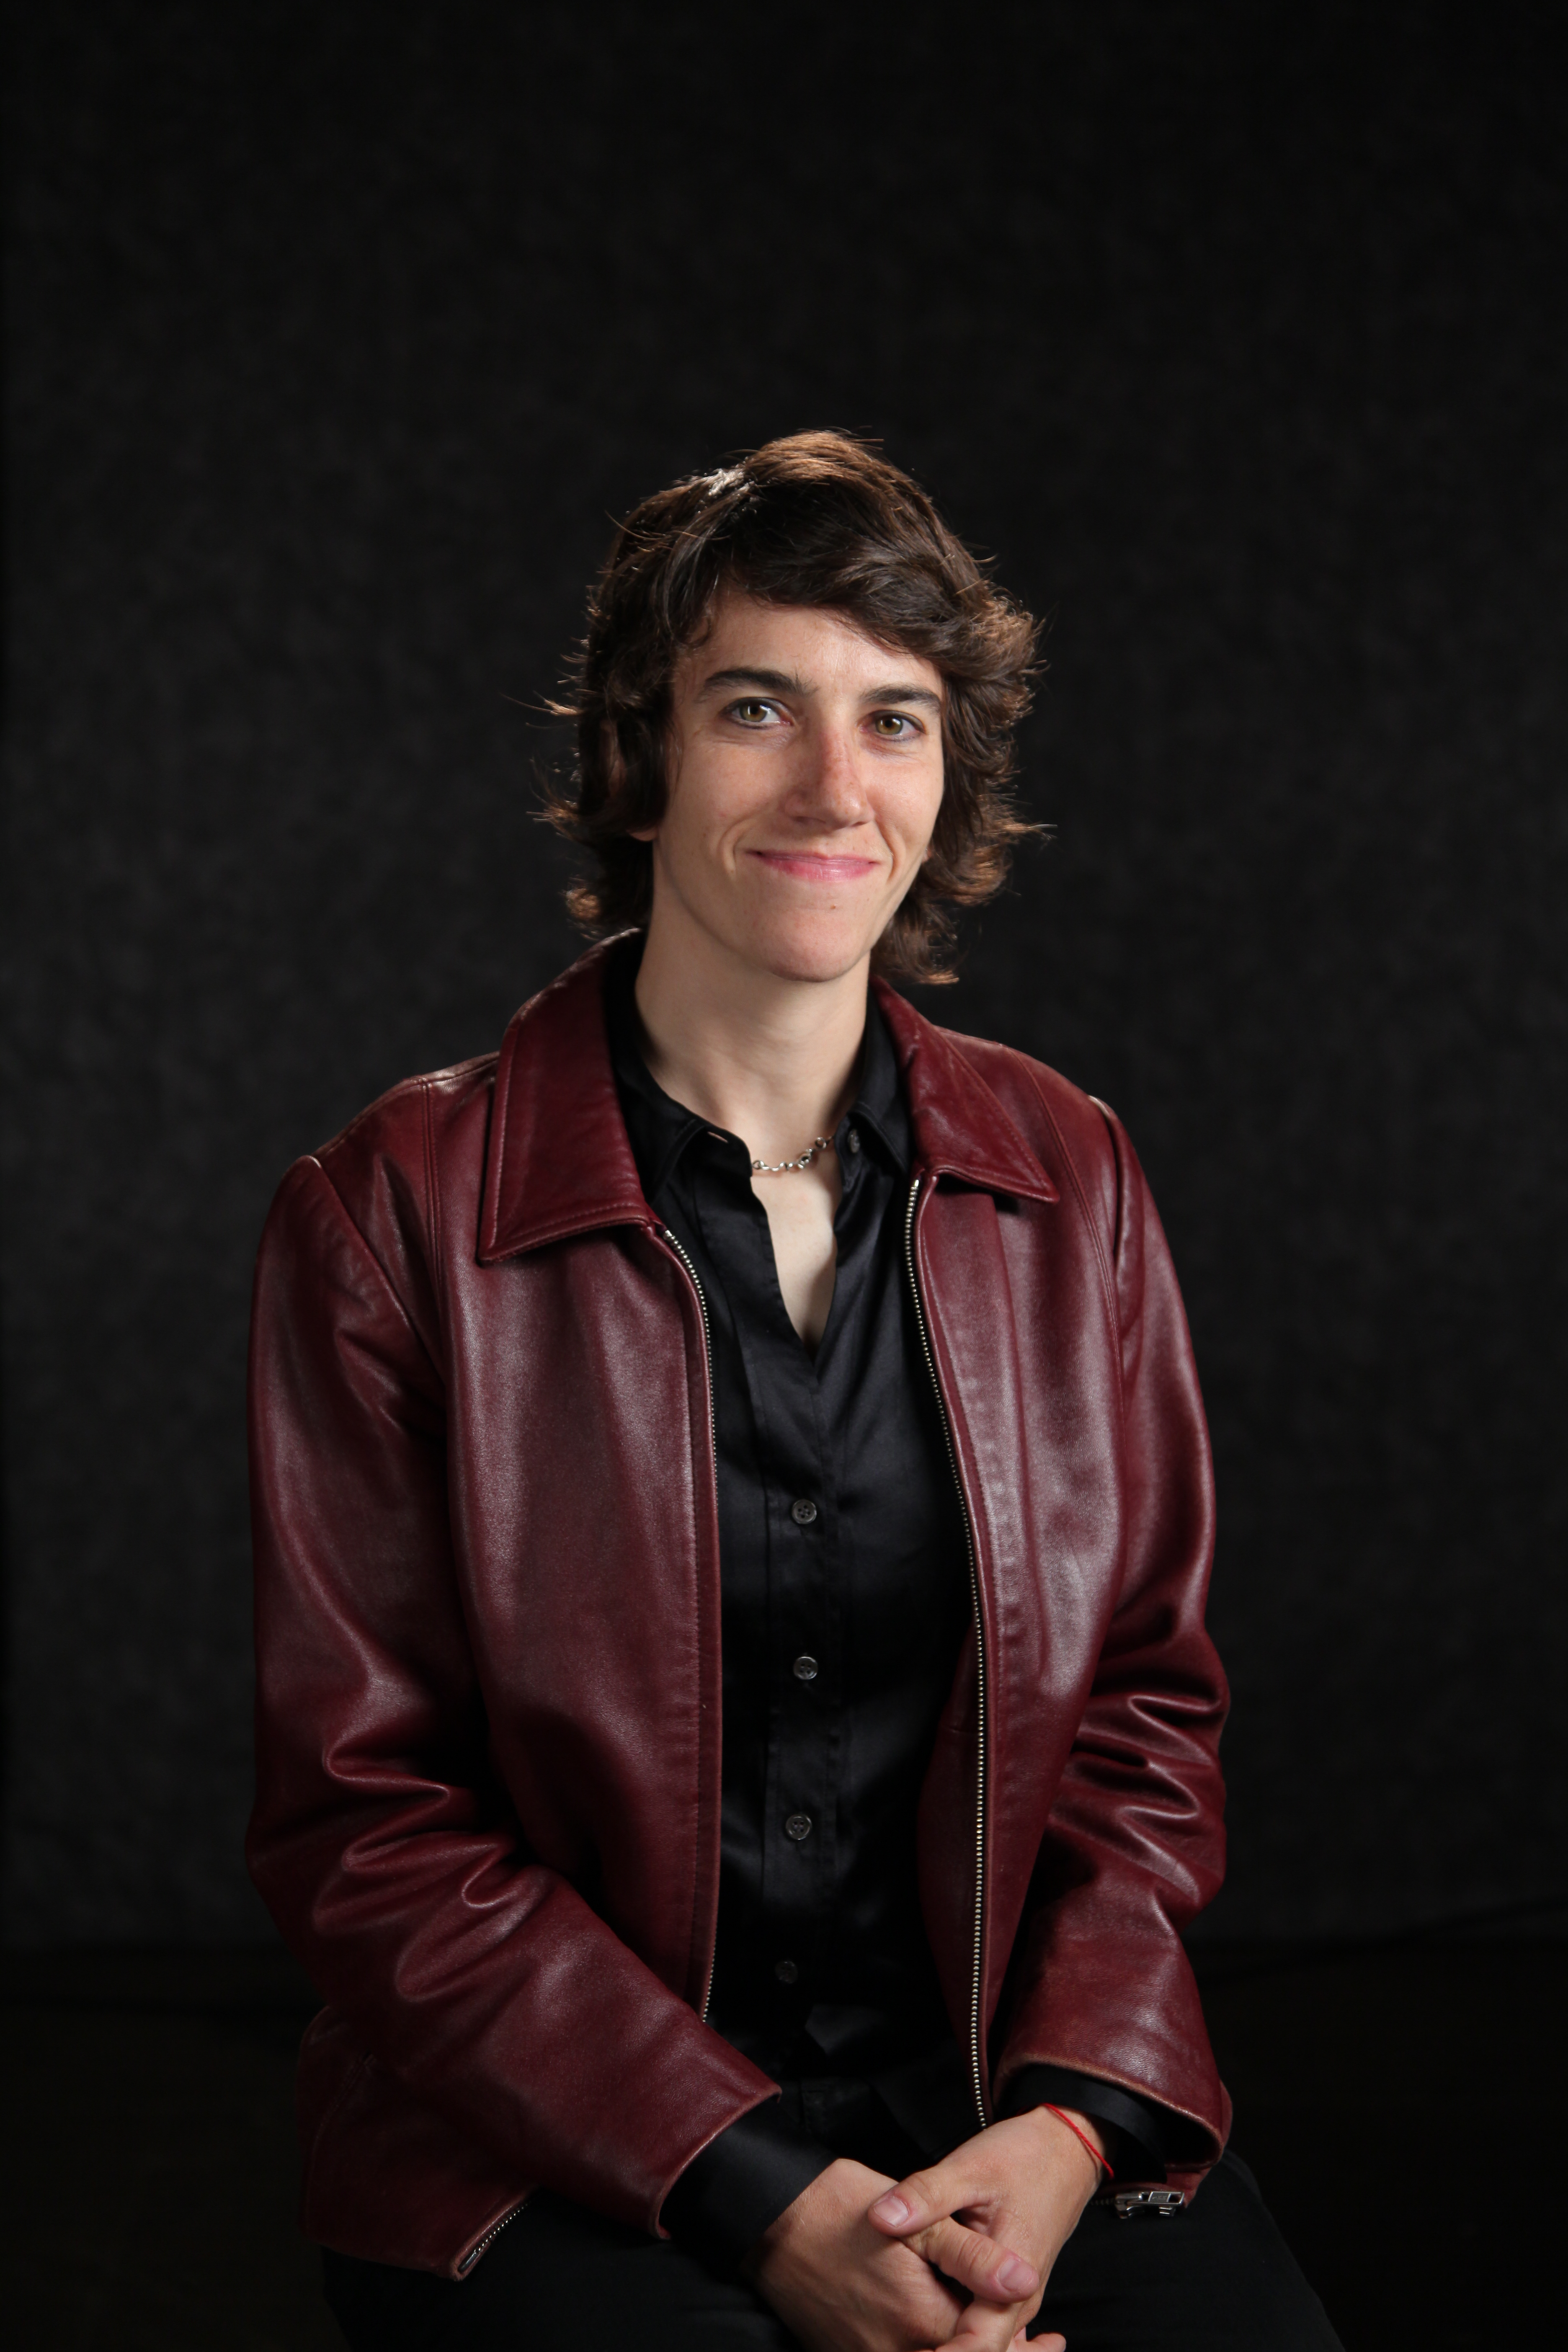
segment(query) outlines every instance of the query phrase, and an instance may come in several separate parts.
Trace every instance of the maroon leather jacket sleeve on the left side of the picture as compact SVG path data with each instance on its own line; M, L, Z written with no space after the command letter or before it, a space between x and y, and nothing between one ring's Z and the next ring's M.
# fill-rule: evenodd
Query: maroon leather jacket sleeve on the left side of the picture
M524 2183L658 2227L670 2183L773 2084L522 1842L487 1764L442 1374L404 1305L411 1258L383 1261L299 1162L252 1324L252 1875L418 2100Z

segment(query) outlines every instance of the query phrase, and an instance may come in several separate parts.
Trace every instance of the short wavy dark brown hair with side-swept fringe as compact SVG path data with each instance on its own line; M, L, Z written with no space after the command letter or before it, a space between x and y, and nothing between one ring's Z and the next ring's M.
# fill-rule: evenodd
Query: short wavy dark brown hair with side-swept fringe
M1039 830L1013 807L1037 623L947 529L926 492L849 433L792 433L693 475L625 517L588 600L571 694L576 764L545 816L590 851L567 894L595 931L646 924L654 856L632 828L665 811L675 668L729 588L839 612L943 677L943 804L931 856L875 950L882 971L950 981L954 913L1006 880Z

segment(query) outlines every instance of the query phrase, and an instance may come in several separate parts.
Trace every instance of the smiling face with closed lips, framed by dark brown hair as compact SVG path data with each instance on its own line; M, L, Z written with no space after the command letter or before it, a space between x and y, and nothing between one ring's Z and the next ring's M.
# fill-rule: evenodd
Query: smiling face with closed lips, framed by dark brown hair
M672 680L654 924L778 978L863 964L943 804L943 680L832 612L731 593Z

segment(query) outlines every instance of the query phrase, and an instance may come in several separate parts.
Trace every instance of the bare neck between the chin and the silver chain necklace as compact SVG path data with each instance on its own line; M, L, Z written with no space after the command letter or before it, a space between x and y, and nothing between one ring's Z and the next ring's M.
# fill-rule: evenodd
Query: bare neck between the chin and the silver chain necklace
M870 955L832 981L795 981L705 934L658 922L637 971L649 1070L668 1096L741 1136L752 1160L795 1160L853 1096Z

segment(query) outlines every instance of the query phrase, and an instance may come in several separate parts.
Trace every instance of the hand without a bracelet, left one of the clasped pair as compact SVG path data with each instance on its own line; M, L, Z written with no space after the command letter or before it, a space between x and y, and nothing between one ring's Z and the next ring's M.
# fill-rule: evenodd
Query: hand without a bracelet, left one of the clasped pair
M1025 2293L1039 2303L1041 2281L1030 2263L947 2216L924 2232L922 2249L872 2227L867 2206L891 2190L886 2173L839 2157L750 2258L752 2281L806 2352L933 2352L964 2321L964 2288L992 2296L990 2310ZM938 2258L945 2277L933 2270Z

